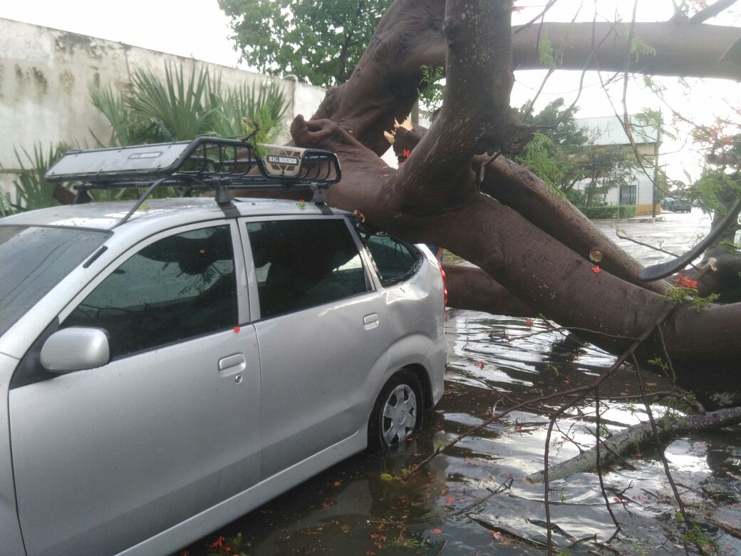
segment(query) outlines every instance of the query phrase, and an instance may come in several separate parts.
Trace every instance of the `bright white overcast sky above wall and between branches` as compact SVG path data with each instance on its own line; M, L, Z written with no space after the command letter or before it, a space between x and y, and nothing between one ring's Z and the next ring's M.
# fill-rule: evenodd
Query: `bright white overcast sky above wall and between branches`
M546 0L516 1L516 5L522 7L515 15L516 22L522 23L538 15L545 4ZM633 2L559 0L549 10L547 19L571 21L579 6L581 9L577 21L591 21L595 13L598 20L612 21L617 14L624 21L630 21ZM671 0L641 0L637 19L665 21L672 13ZM246 65L239 64L239 56L228 38L229 19L219 10L216 0L4 0L0 2L0 17L248 69ZM710 22L741 25L741 10L729 10ZM522 105L534 96L542 75L543 72L518 72L512 104ZM536 108L559 96L564 96L567 102L571 102L578 89L578 79L579 72L556 72L539 97ZM738 101L741 98L741 88L736 84L698 80L692 83L691 94L687 96L687 91L682 93L675 86L676 80L665 79L664 82L677 91L671 95L672 105L688 113L695 121L711 122L715 116L727 116L731 113L728 104L741 104ZM622 85L612 90L611 95L612 103L622 112L622 107L619 106ZM597 75L589 74L579 99L579 116L609 116L614 113L612 103L602 91ZM658 109L662 105L637 79L631 84L628 108L631 112L639 112L642 107ZM669 156L672 151L680 148L681 156ZM675 178L681 177L677 173L681 173L682 162L688 159L687 152L691 148L686 131L678 142L666 142L664 152L668 154L667 163L672 165L674 170L671 173ZM694 165L697 166L696 163ZM697 174L697 168L688 166L687 169Z

